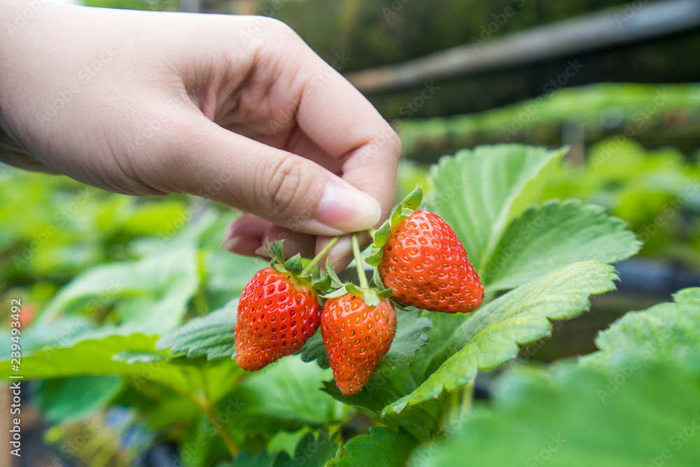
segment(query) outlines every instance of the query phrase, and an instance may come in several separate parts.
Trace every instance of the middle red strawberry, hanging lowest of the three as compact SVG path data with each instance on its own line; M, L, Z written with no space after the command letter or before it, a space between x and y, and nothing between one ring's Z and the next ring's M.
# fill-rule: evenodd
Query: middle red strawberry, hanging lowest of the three
M335 384L346 396L365 386L396 333L396 312L388 299L376 307L363 295L347 293L325 302L321 336Z

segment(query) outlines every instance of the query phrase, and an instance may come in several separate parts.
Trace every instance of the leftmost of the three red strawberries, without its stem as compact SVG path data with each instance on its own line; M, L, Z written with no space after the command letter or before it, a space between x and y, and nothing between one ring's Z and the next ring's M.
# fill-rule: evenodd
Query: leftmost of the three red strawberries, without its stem
M248 281L238 302L236 363L260 370L301 349L320 323L314 287L291 272L266 267Z

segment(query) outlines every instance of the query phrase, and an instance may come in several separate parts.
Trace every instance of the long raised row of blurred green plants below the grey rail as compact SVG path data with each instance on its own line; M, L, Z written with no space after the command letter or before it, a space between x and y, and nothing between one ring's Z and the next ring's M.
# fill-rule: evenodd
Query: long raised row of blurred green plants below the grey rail
M394 123L405 157L422 162L479 144L559 146L612 136L692 152L700 147L700 84L601 83L480 113Z

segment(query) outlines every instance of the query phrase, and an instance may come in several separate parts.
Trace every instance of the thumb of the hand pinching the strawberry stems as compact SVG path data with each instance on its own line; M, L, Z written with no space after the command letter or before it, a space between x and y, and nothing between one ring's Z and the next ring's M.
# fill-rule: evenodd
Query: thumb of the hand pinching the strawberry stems
M314 235L366 230L381 218L379 202L300 155L272 148L195 116L153 166L154 186L190 193ZM156 176L154 173L153 176Z

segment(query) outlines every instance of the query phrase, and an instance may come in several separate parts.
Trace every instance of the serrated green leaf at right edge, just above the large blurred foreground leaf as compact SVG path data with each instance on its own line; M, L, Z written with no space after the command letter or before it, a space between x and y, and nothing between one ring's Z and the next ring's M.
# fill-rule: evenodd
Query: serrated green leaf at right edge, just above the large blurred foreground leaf
M700 287L675 293L674 302L660 303L643 312L630 312L596 339L600 351L582 361L617 370L619 362L636 358L673 361L700 349Z

